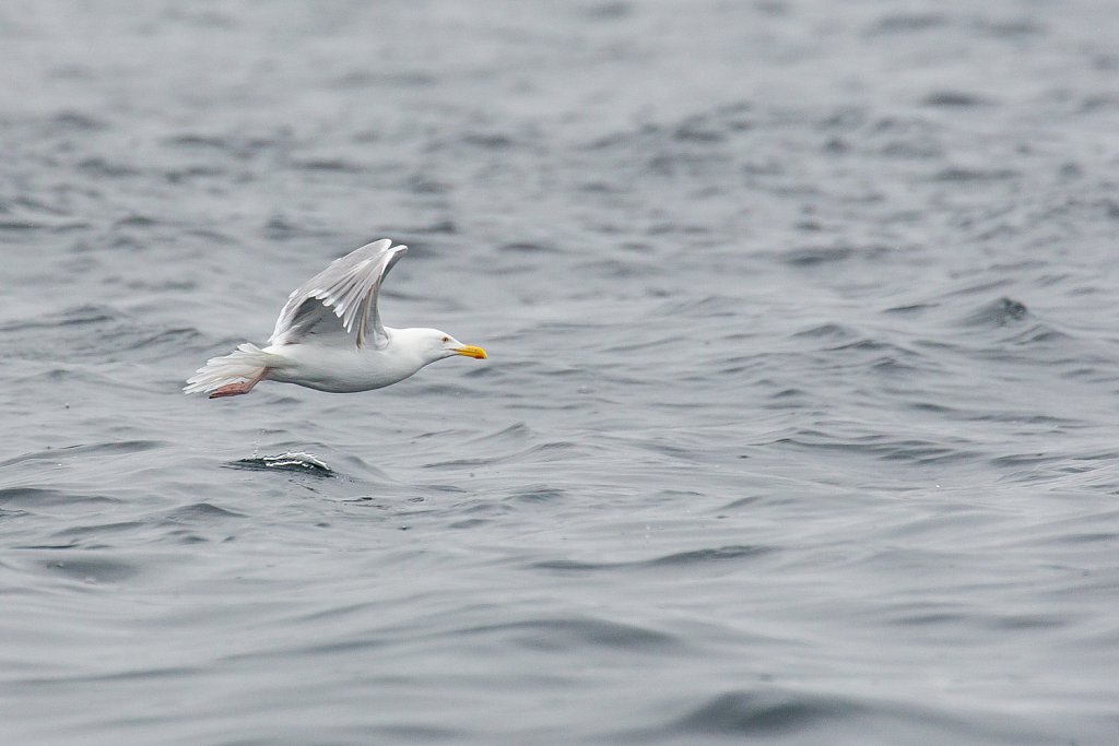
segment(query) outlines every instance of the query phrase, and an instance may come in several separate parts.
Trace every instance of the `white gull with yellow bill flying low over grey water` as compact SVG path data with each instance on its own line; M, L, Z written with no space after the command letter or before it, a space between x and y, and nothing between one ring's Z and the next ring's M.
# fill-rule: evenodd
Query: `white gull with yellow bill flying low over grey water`
M250 342L211 358L187 379L184 394L248 394L262 380L349 394L402 381L457 355L486 350L438 329L393 329L380 322L377 293L407 246L388 238L366 244L294 290L264 349Z

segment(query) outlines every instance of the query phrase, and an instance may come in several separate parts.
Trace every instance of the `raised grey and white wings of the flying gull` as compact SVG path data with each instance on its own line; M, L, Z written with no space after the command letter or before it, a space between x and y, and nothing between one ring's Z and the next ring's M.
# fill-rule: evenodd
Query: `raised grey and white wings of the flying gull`
M387 238L335 259L288 296L270 344L291 344L309 334L345 334L357 347L380 349L388 334L377 311L377 293L407 246Z

